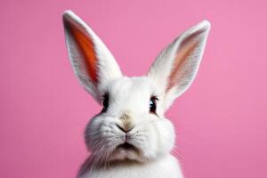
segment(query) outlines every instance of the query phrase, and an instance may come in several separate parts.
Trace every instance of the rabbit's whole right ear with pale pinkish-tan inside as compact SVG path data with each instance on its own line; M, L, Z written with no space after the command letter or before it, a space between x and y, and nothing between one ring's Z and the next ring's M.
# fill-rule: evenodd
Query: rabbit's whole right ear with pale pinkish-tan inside
M184 93L198 72L210 23L204 20L169 44L154 61L149 77L165 90L165 108Z

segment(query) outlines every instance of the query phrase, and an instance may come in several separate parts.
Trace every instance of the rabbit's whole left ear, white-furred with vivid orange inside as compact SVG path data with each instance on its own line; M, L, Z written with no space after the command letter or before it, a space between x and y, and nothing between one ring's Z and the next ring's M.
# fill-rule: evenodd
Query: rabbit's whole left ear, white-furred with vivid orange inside
M104 87L122 76L117 62L101 39L73 12L64 12L63 24L72 68L85 90L101 102Z

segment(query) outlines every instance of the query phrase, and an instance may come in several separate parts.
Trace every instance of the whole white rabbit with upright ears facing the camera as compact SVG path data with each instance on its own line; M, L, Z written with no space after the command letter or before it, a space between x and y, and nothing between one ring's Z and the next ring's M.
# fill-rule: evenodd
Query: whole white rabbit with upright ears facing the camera
M73 12L63 15L66 43L81 85L103 109L85 129L91 151L83 178L182 178L174 126L164 113L196 77L210 23L204 20L162 51L143 77L125 77L101 39Z

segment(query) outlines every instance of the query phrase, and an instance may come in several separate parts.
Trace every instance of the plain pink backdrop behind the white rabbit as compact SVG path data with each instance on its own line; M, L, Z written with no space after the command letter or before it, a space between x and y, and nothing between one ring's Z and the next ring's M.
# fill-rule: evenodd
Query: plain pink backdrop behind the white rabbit
M75 177L101 109L78 85L61 14L71 9L139 76L186 28L210 20L190 90L166 113L185 178L267 177L266 1L1 1L0 177Z

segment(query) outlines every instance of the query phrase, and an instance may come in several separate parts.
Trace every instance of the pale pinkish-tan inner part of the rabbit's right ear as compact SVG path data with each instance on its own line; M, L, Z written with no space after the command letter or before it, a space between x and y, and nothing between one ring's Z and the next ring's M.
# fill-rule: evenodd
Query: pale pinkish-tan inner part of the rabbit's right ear
M194 52L194 50L198 46L198 40L189 42L191 39L188 38L186 41L183 41L182 44L180 45L178 51L176 52L176 57L174 59L174 67L171 72L171 75L169 76L168 80L168 85L166 88L166 92L169 91L174 85L178 85L179 81L182 79L184 73L190 72L187 70L190 69L182 69L186 67L186 63L190 62L190 54Z

